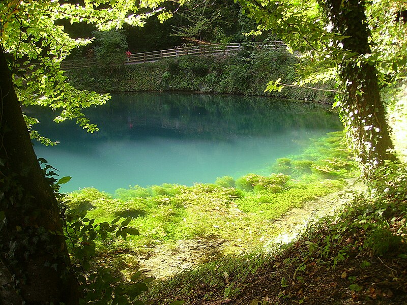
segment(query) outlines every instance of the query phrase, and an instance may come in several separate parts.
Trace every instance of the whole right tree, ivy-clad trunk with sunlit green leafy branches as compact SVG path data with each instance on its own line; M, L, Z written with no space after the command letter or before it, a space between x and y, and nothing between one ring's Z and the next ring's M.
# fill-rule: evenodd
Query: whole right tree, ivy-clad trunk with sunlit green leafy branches
M401 0L258 2L238 0L258 32L279 33L307 59L297 85L336 78L335 105L366 177L395 160L380 90L397 81L407 58ZM398 73L398 74L397 74ZM385 80L387 82L385 82ZM281 89L278 81L269 90Z

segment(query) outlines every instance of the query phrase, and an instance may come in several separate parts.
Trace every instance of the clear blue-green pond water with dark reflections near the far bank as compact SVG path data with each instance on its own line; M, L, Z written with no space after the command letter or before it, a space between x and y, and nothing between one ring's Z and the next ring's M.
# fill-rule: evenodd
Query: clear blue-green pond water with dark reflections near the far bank
M42 135L38 157L72 176L62 191L95 187L106 192L163 183L192 185L216 177L270 173L277 158L301 152L310 138L341 130L330 107L270 98L191 94L122 94L86 111L99 132L56 113L34 109Z

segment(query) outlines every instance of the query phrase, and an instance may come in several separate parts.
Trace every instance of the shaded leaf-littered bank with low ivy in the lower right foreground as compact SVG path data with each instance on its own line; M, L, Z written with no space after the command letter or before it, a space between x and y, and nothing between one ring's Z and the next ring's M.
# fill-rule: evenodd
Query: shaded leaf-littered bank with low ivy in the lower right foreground
M225 256L155 281L148 304L402 304L407 293L405 167L403 189L366 198L354 193L334 216L271 252ZM396 174L396 172L398 172Z

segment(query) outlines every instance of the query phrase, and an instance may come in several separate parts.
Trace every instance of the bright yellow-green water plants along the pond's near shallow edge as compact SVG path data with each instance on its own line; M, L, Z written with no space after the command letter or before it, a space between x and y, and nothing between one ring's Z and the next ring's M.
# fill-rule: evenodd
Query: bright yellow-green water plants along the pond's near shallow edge
M180 239L220 238L227 253L261 247L279 233L274 224L290 209L341 190L358 173L345 148L343 133L317 139L291 158L278 159L268 176L219 177L214 184L192 187L164 184L118 189L114 195L85 188L69 193L70 212L95 223L128 219L139 234L126 240L97 240L98 251L131 249L149 252L157 243Z

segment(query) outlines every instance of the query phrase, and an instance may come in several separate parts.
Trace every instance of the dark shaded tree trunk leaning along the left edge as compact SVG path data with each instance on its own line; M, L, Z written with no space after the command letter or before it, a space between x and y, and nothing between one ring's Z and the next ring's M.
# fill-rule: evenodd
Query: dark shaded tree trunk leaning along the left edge
M59 207L0 47L0 303L77 304Z

